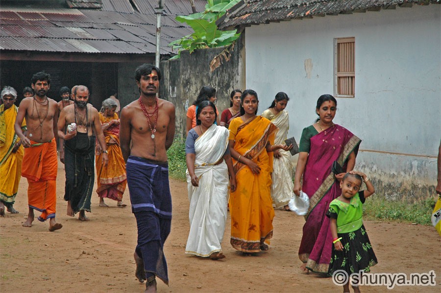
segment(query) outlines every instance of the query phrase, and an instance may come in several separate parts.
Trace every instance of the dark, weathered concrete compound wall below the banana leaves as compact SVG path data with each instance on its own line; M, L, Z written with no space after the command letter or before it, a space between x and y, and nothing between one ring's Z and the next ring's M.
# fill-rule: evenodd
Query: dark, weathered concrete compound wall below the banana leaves
M180 59L161 62L163 79L160 96L172 101L176 109L176 137L185 139L187 109L196 100L204 85L214 87L219 115L230 106L230 93L234 89L245 89L245 48L239 39L228 62L210 72L211 60L218 49L199 49L192 54L181 52Z

